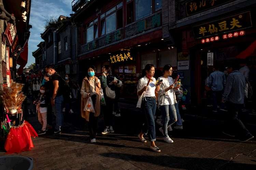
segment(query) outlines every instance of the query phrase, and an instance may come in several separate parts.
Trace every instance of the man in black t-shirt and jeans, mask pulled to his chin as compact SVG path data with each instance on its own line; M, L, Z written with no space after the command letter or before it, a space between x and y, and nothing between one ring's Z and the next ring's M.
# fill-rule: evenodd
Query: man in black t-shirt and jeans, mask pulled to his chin
M55 125L55 134L61 133L61 125L63 122L63 114L62 114L62 105L63 105L63 86L62 78L55 71L53 65L48 65L45 67L45 71L47 75L50 77L49 83L49 94L51 97L51 104L54 111L54 116L56 117L56 125Z

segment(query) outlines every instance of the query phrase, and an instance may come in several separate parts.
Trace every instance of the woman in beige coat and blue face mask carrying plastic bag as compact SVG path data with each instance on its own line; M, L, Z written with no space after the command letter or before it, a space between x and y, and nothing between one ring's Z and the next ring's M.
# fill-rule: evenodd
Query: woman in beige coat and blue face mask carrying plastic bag
M87 76L81 88L81 116L87 121L91 142L96 142L98 116L100 115L100 80L95 76L95 66L89 66ZM95 113L84 111L88 98L91 97Z

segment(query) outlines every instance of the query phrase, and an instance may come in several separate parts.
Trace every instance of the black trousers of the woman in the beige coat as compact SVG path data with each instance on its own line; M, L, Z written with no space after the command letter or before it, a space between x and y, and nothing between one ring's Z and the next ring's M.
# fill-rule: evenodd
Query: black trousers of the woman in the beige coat
M93 105L95 107L96 95L91 96L91 99L93 100ZM98 127L98 117L95 117L94 113L90 113L89 121L87 121L87 123L88 123L90 138L95 139L97 134L97 127Z

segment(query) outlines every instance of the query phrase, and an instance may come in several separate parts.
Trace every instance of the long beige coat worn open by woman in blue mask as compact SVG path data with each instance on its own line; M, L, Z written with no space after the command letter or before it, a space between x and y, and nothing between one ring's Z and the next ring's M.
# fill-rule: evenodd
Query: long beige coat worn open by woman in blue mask
M98 78L95 77L95 83L98 82ZM99 87L95 84L96 87L96 103L94 106L95 113L94 116L97 117L100 115L100 89ZM90 92L90 83L87 77L84 78L83 83L82 83L82 88L81 88L81 116L82 118L85 118L87 121L89 121L89 114L90 112L84 111L85 104L88 100L87 93Z

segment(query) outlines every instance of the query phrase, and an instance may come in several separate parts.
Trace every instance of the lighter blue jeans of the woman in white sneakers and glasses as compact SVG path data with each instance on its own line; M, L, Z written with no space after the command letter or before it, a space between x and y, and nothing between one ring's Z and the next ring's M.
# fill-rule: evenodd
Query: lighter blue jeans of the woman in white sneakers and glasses
M177 114L174 104L173 105L163 105L160 106L161 113L162 113L162 129L163 129L163 136L168 136L167 128L169 125L172 125L177 121ZM169 114L171 113L171 114ZM171 118L170 118L171 117Z

